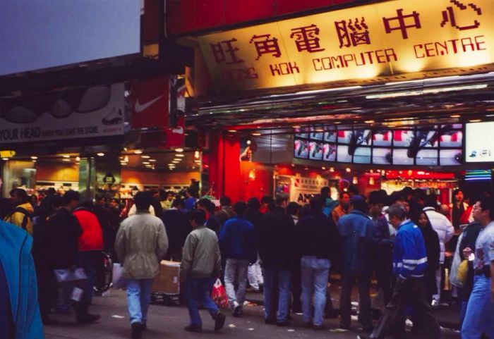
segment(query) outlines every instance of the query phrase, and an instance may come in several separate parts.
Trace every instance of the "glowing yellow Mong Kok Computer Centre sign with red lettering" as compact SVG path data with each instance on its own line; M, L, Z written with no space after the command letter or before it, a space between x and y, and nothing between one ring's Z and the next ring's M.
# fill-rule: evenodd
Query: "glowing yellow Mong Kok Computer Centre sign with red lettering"
M199 42L220 88L255 90L488 70L478 66L494 63L493 32L493 0L396 0L204 35Z

